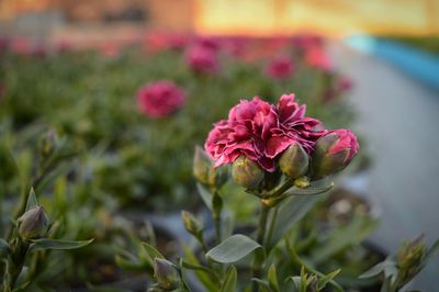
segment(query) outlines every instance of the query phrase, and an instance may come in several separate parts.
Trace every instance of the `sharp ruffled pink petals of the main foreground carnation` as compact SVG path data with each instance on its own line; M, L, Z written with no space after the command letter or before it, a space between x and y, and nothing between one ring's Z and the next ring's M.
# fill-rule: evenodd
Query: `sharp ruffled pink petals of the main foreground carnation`
M305 116L305 105L284 94L277 105L255 97L235 105L227 120L214 125L205 142L215 167L232 164L240 155L267 171L275 170L274 159L290 145L300 143L312 154L316 141L327 133L318 120Z

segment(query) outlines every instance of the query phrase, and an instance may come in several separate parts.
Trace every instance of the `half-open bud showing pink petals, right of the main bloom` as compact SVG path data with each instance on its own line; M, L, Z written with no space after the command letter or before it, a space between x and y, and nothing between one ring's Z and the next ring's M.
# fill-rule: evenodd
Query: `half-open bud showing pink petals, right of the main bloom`
M349 130L335 130L320 137L312 159L313 178L341 171L359 150L356 135Z

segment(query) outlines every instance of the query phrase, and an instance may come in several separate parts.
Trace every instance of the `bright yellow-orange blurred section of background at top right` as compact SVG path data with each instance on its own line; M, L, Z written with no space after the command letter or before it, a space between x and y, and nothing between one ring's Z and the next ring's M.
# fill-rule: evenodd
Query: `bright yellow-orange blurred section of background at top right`
M194 0L202 33L438 34L438 0Z

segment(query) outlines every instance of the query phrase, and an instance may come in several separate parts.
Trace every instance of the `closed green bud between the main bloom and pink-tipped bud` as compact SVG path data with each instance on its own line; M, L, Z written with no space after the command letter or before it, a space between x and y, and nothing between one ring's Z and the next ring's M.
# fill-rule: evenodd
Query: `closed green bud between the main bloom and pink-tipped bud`
M308 171L309 156L299 143L291 145L279 159L279 167L285 176L300 178Z

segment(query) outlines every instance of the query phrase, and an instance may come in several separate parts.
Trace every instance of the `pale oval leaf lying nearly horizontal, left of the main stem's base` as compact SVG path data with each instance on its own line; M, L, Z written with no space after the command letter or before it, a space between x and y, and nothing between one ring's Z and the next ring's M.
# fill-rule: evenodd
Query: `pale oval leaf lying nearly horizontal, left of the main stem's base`
M241 234L236 234L212 248L206 254L206 257L217 262L232 263L261 248L262 246L254 239Z

